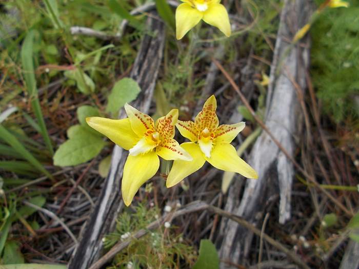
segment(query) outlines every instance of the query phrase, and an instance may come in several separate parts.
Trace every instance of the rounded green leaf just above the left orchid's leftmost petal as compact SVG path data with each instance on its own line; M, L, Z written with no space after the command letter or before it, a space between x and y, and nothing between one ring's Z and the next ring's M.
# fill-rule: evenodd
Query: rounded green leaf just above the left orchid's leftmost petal
M107 98L106 112L117 113L126 102L129 103L136 99L139 92L141 92L141 88L132 78L126 77L118 80Z

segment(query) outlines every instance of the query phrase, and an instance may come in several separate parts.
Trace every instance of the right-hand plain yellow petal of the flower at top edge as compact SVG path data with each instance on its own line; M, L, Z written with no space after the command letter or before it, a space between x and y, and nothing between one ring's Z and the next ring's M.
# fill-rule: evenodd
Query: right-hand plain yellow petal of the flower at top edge
M222 4L212 4L204 12L203 20L221 30L227 37L231 35L231 24L226 8Z

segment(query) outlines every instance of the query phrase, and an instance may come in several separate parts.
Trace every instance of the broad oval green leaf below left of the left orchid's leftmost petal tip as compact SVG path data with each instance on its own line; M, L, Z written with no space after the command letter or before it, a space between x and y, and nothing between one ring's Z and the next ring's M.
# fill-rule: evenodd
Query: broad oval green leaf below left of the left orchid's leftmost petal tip
M84 163L94 158L105 146L102 137L88 134L74 136L63 143L55 152L54 164L64 167Z

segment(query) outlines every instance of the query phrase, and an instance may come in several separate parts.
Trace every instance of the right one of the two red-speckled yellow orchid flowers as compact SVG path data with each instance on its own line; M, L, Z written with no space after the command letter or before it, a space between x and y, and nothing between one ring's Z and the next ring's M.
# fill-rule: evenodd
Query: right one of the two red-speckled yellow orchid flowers
M194 122L178 120L176 127L179 132L191 142L181 144L191 156L192 161L175 160L166 181L167 188L183 180L188 175L200 169L205 161L215 168L239 173L248 178L258 178L257 173L241 159L230 142L241 132L244 122L233 125L218 126L215 113L217 102L212 95L205 102L203 109L195 117Z

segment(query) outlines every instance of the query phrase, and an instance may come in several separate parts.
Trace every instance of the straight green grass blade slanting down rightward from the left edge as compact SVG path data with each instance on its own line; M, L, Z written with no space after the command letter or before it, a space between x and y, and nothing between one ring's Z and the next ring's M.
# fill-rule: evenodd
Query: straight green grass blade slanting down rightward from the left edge
M29 161L38 171L43 172L49 178L52 178L51 174L45 170L43 165L32 154L25 149L23 144L19 142L15 136L13 136L4 126L0 125L0 136L5 140L16 152L21 154L24 159Z

